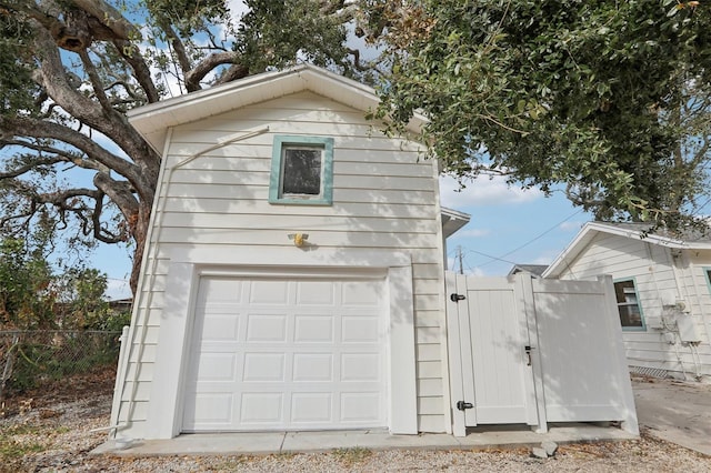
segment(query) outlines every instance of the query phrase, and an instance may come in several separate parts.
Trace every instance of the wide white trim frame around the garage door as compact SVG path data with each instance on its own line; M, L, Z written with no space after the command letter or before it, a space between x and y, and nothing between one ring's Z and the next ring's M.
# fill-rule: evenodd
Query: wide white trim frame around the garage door
M372 252L369 252L372 254ZM183 253L184 254L184 253ZM194 253L192 253L194 255ZM391 258L381 260L374 270L372 262L360 260L351 265L327 264L323 266L276 263L262 261L254 266L254 262L242 261L244 264L219 264L217 262L172 262L168 271L166 289L166 308L160 324L159 340L156 355L154 376L151 383L149 405L149 424L146 436L149 439L170 439L181 432L182 395L184 371L187 366L187 350L190 346L190 328L194 316L194 302L198 281L203 274L221 275L260 275L297 274L313 276L334 276L347 274L349 271L359 276L370 274L373 278L385 276L389 293L389 320L387 322L387 356L388 356L388 390L389 430L393 434L417 434L417 379L414 352L414 315L412 296L412 266L403 264L409 255L390 253ZM263 260L263 256L261 258ZM224 260L224 259L223 259ZM348 259L346 259L348 260ZM387 265L387 261L395 265ZM343 261L342 254L340 261ZM170 343L164 341L169 340Z

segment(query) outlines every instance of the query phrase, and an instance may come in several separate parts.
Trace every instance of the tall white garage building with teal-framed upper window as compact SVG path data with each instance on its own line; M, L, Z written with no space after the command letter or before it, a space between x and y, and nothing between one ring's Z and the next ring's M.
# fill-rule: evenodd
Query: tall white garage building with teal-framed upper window
M444 238L469 215L377 105L300 66L129 113L162 169L118 435L451 432Z

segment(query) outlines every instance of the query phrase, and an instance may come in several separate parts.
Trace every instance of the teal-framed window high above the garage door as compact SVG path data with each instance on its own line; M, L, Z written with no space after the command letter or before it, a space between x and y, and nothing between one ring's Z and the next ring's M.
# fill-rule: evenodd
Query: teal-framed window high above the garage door
M269 202L330 205L332 162L332 138L274 137Z

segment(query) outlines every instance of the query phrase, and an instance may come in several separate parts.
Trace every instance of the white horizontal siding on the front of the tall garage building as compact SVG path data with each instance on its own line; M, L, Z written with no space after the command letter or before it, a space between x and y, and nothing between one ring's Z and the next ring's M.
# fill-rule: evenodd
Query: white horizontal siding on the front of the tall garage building
M269 254L276 248L292 248L287 233L301 231L318 245L316 251L378 249L411 254L420 430L445 430L443 262L434 163L423 160L417 145L375 131L362 112L303 92L174 129L168 165L212 147L226 135L264 125L269 132L206 153L171 173L167 200L158 205L164 210L156 218L161 228L153 230L160 233L160 261L156 274L150 274L153 264L147 261L149 271L142 279L136 312L139 322L147 313L150 319L141 350L142 335L133 336L128 380L133 380L131 373L137 365L141 374L137 385L128 383L124 389L136 390L131 414L134 427L140 432L146 421L148 373L153 369L163 316L170 252L190 244L218 254L238 246ZM268 202L274 134L334 139L331 207ZM120 419L129 416L127 400L124 394Z

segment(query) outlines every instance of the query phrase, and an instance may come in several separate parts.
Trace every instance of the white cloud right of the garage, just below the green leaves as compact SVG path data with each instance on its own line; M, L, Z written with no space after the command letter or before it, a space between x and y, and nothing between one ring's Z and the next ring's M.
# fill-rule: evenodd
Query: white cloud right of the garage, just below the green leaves
M462 207L481 207L491 204L508 204L530 202L543 197L538 189L521 189L510 187L503 177L481 177L467 182L467 187L460 190L459 183L451 177L440 178L440 192L442 205L454 209Z

